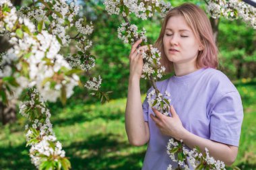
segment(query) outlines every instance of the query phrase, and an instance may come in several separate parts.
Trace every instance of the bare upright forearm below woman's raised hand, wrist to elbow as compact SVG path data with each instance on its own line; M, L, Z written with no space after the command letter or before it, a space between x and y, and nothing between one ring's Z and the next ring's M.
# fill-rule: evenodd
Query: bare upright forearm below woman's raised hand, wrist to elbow
M131 144L139 146L148 142L149 136L143 118L139 79L129 79L125 129Z

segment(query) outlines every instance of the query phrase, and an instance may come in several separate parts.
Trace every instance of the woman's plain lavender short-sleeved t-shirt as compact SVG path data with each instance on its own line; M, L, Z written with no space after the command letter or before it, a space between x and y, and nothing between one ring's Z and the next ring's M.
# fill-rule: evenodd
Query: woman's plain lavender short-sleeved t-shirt
M189 75L173 76L156 83L164 94L170 93L171 104L183 126L191 133L217 142L238 146L243 122L243 105L236 87L216 69L203 68ZM149 90L151 91L152 88ZM148 91L148 92L149 92ZM150 141L143 170L166 170L177 167L166 153L169 136L161 134L150 118L152 110L143 102L144 120L150 129Z

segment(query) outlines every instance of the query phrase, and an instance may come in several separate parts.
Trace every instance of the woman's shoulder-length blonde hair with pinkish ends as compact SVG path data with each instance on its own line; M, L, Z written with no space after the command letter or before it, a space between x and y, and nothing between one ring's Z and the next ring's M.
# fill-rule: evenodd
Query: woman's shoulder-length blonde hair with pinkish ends
M210 20L207 18L205 12L192 3L183 3L179 7L174 7L170 9L162 22L162 28L158 40L156 40L155 46L161 52L161 64L166 67L166 73L172 71L172 62L168 60L166 54L164 53L163 38L165 33L166 24L168 19L173 16L183 16L187 25L193 33L197 40L199 40L200 45L203 50L198 52L196 67L199 69L201 67L212 67L216 69L218 66L218 48L214 42L214 36L212 32L212 26Z

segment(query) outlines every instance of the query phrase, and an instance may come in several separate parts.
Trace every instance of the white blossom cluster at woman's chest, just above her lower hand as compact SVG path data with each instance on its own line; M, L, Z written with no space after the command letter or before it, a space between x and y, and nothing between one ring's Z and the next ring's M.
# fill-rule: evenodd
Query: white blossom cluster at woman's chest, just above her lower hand
M168 97L170 97L170 93L168 93L168 91L165 91L163 95L160 92L156 92L155 89L152 89L152 91L150 91L147 95L150 107L154 107L165 116L169 116L168 113L171 99L168 99Z

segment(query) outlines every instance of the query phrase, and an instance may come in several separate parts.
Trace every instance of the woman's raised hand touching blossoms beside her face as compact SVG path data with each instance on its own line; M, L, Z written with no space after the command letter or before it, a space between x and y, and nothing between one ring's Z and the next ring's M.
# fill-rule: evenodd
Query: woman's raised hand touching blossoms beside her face
M142 52L148 50L148 46L140 46L137 48L137 46L142 42L141 39L137 40L132 48L131 52L129 54L129 60L130 60L130 79L140 79L143 69L143 58L142 58Z

